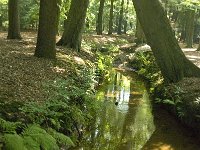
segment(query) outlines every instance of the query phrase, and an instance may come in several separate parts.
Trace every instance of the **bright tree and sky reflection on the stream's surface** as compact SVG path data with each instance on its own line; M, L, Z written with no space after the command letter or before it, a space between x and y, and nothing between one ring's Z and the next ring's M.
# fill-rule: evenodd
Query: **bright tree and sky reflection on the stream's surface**
M143 82L113 71L111 82L100 87L101 111L83 150L140 150L155 130L149 97Z

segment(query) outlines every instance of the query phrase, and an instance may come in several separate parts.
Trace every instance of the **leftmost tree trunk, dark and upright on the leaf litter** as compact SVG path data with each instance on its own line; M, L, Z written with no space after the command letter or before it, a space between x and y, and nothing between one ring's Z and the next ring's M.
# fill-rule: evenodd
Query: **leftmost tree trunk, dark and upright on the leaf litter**
M21 39L19 0L8 1L8 39Z

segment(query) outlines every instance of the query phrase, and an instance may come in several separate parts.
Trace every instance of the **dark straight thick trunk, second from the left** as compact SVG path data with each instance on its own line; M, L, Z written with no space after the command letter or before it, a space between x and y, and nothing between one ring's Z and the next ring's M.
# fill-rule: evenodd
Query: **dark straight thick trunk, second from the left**
M36 57L56 57L55 44L58 31L59 5L60 0L40 0Z

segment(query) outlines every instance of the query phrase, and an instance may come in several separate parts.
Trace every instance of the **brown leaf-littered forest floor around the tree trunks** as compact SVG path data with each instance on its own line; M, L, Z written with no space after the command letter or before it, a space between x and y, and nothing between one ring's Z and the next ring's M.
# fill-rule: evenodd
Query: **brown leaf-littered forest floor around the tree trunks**
M23 32L22 40L7 40L5 32L0 33L0 99L36 100L46 99L48 92L43 91L43 83L66 77L73 65L87 65L95 62L92 47L132 46L133 38L127 35L84 35L83 50L80 53L57 47L57 61L33 56L36 45L35 32ZM59 38L59 37L58 37ZM200 67L200 52L183 49L186 56ZM60 61L59 64L56 65Z

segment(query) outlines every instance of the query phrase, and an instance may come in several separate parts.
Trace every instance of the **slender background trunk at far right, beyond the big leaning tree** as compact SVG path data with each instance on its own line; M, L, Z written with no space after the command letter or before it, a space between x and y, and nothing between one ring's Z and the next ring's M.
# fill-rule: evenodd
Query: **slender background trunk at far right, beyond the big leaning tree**
M193 35L194 35L195 11L194 10L187 10L186 16L187 16L187 22L186 22L186 44L187 44L187 48L192 48Z

